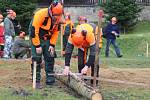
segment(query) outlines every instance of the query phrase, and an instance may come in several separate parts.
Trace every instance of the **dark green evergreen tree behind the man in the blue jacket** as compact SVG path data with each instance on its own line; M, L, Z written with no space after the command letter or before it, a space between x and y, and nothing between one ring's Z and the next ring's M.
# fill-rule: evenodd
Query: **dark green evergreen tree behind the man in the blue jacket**
M136 25L139 12L142 7L136 3L136 0L111 0L102 5L107 14L106 20L116 16L121 29L129 30Z

